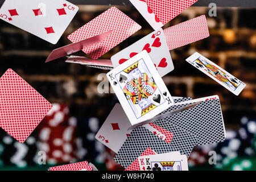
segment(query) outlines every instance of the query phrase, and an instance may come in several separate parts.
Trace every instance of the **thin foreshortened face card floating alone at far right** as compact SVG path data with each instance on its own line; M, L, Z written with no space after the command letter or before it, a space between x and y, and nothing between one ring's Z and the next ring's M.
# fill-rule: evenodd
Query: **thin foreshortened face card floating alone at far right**
M195 52L186 61L238 96L246 84L206 57Z

